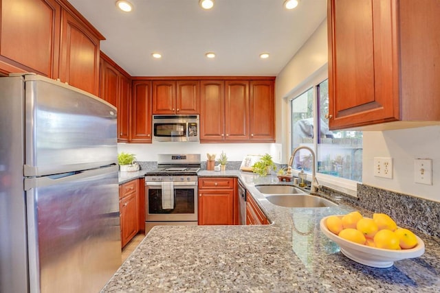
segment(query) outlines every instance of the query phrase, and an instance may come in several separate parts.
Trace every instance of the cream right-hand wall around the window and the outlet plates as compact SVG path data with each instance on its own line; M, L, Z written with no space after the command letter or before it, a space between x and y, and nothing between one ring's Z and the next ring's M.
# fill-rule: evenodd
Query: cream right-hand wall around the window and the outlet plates
M285 97L327 64L327 20L307 40L276 78L276 139L283 162L289 156L289 104ZM364 132L362 180L380 187L440 202L440 126ZM373 176L375 156L393 158L393 179ZM432 185L414 183L414 159L432 159Z

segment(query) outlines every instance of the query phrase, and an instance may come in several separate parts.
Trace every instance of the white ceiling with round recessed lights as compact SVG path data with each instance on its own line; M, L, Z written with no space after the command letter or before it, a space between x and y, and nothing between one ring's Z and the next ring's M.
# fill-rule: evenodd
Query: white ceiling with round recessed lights
M277 75L326 18L327 0L69 0L106 38L101 50L132 76ZM161 59L151 56L153 51ZM216 58L205 54L213 51ZM267 59L259 58L263 52Z

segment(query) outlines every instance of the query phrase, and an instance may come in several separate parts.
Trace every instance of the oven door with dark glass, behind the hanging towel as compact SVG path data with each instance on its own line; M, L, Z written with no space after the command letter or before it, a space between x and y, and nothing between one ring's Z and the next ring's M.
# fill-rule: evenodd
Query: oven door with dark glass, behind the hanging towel
M174 208L162 209L162 183L145 184L145 220L197 221L197 181L174 183Z

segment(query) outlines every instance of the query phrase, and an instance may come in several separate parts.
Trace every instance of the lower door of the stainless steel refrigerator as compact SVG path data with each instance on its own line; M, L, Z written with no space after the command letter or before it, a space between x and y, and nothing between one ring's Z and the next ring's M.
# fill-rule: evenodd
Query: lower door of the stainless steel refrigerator
M31 292L99 292L119 268L117 170L25 179Z

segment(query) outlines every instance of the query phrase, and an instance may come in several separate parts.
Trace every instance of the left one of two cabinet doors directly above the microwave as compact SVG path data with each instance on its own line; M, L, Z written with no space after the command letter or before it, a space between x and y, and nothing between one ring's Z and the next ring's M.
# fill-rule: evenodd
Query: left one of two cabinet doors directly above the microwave
M153 114L175 114L176 82L153 81Z

